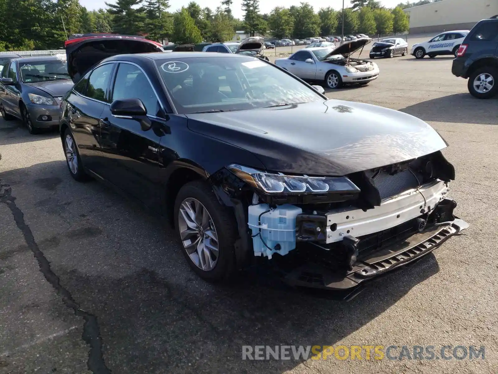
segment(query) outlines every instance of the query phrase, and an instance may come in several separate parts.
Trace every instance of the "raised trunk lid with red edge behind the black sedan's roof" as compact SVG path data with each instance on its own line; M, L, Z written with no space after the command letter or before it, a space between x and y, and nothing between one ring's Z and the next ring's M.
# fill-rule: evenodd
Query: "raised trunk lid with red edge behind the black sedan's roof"
M67 71L76 83L90 68L117 54L162 52L162 45L142 36L75 34L64 42Z

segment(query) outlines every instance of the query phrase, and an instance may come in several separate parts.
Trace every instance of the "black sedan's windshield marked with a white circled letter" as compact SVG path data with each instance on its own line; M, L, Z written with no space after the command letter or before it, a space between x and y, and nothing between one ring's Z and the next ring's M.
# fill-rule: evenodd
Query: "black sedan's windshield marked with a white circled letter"
M254 57L156 60L178 113L256 109L323 100L314 89Z

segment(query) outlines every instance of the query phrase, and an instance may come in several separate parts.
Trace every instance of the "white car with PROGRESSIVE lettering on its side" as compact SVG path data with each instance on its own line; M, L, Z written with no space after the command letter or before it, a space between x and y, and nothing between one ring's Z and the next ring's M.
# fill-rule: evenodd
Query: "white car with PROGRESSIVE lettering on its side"
M413 44L410 54L415 58L424 58L428 55L434 58L439 55L453 55L457 57L458 48L469 33L469 30L445 31L437 34L429 41Z

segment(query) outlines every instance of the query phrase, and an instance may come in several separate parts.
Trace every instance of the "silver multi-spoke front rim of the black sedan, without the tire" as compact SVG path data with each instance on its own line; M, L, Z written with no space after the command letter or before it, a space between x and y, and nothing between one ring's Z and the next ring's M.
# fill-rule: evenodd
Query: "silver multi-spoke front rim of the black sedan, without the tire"
M197 199L188 197L180 204L178 228L183 248L192 262L201 270L213 270L218 263L218 234L206 207Z

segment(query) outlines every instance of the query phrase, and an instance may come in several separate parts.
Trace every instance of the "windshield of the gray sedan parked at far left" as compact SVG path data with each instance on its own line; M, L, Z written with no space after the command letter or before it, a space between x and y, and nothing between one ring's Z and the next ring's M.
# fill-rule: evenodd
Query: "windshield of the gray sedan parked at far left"
M25 83L37 83L50 80L69 79L66 61L19 61L21 80Z

